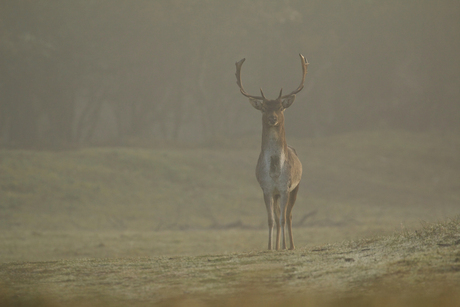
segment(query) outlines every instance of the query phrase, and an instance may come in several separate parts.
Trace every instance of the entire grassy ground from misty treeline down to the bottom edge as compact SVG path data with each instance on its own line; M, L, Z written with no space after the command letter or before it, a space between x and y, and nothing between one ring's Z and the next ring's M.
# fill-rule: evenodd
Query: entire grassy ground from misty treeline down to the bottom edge
M291 140L294 252L264 251L259 142L0 150L0 305L460 302L459 136Z

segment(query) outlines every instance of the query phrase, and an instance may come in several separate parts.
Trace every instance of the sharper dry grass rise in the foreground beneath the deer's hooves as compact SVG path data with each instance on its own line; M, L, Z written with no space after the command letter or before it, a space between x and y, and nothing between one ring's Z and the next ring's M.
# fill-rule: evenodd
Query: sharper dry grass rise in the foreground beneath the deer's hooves
M0 279L5 306L455 306L460 217L296 251L7 263Z

